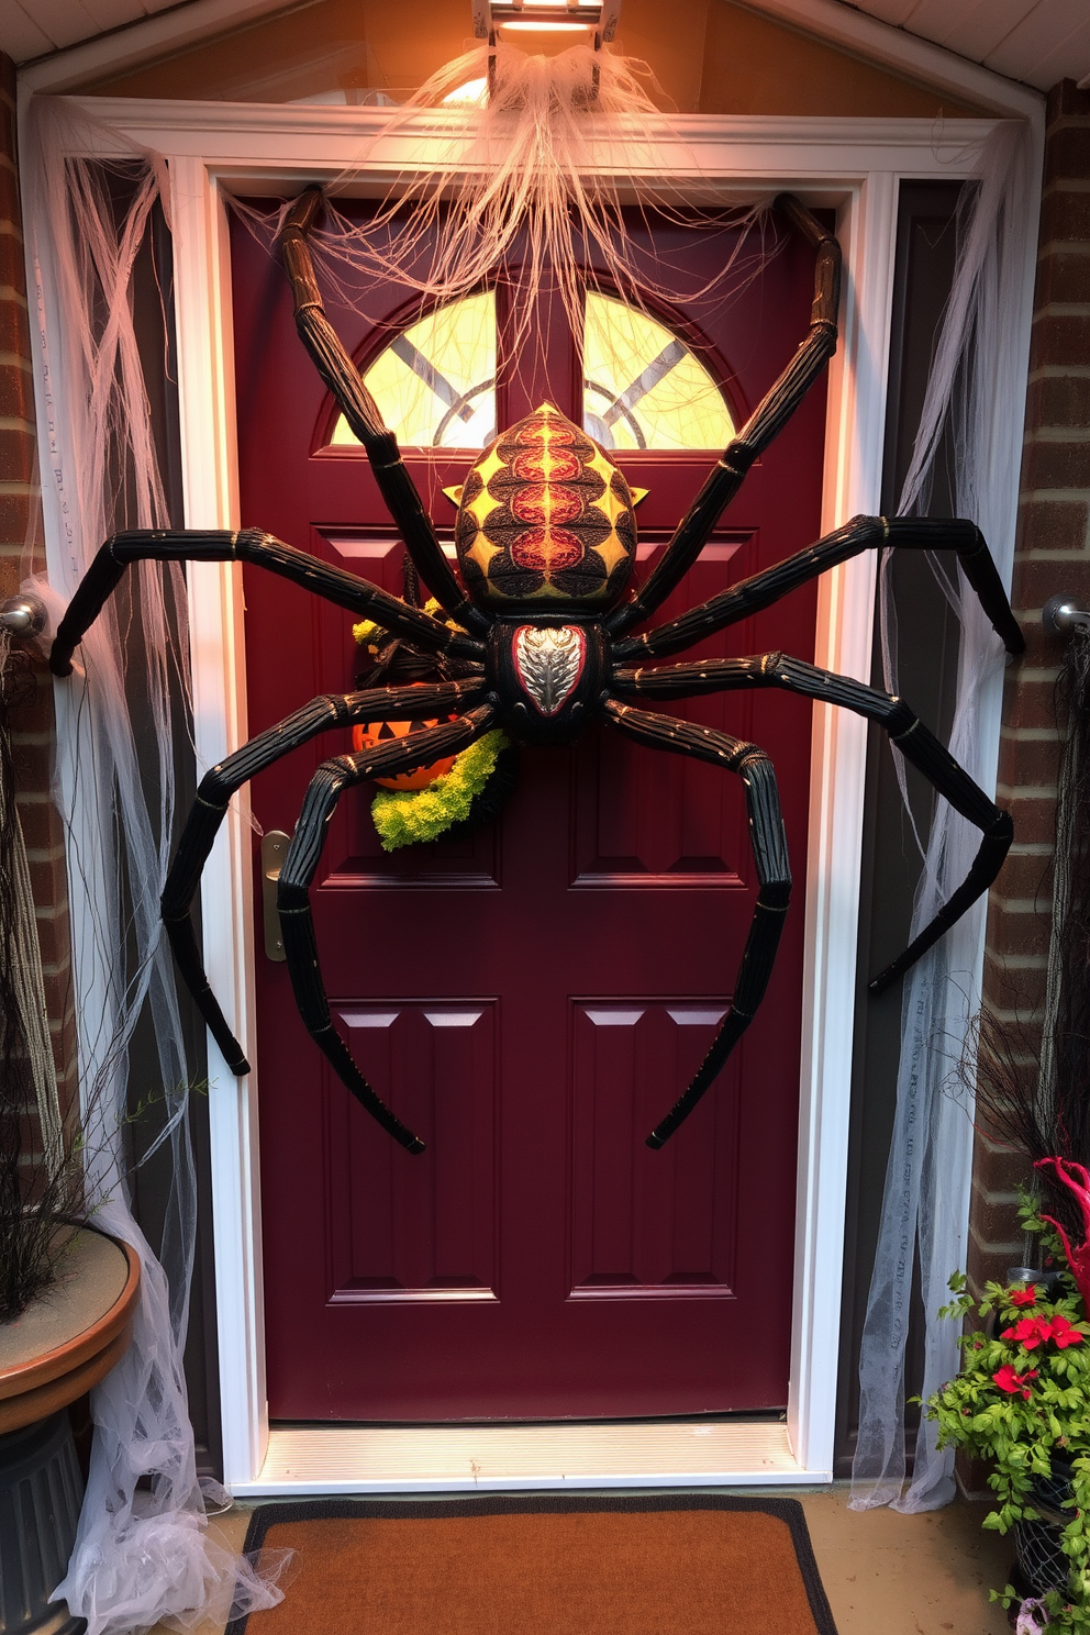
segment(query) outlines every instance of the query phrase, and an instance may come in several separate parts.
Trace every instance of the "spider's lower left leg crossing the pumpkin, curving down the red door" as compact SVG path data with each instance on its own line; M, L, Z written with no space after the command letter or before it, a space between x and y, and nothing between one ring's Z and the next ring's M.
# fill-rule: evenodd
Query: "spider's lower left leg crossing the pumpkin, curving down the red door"
M364 749L355 755L337 755L333 760L325 760L310 778L276 888L284 953L299 1015L310 1038L332 1063L342 1084L409 1153L423 1153L423 1141L379 1100L333 1027L314 937L310 881L322 857L330 818L337 811L343 790L350 790L366 778L412 772L413 767L423 767L440 755L456 754L487 732L495 719L495 706L489 701L466 711L458 721L443 721L423 732L413 732L412 737L392 739L379 749Z

